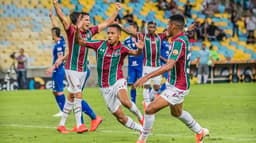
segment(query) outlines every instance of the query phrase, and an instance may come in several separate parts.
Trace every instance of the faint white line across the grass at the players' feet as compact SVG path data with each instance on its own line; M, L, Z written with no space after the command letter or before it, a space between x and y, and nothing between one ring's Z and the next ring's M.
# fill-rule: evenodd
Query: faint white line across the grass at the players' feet
M53 126L42 126L42 125L22 125L22 124L0 124L0 127L18 127L18 128L39 128L39 129L56 129ZM97 130L100 133L115 133L115 134L137 134L138 132L126 132L120 130ZM184 136L184 134L164 134L164 133L152 133L152 136L159 137L182 137L182 138L191 138L192 136ZM247 136L247 137L228 137L228 136L210 136L210 139L214 140L234 140L234 141L256 141L256 136Z

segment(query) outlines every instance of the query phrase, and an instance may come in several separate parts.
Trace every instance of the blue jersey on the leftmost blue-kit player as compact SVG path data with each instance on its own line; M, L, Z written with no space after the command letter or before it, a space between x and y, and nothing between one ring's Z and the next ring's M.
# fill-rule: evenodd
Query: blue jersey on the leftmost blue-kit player
M60 40L57 41L53 47L53 51L52 51L52 55L53 55L53 64L55 64L56 60L58 59L58 55L65 54L65 40L64 38L61 36ZM62 63L60 66L63 66L64 64Z

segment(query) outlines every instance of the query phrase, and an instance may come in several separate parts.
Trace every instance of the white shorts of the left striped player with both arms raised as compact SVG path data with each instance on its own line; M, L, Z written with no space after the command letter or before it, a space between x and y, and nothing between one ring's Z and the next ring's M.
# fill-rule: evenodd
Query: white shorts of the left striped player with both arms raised
M73 70L65 70L68 80L68 91L70 93L82 92L87 80L87 71L78 72Z

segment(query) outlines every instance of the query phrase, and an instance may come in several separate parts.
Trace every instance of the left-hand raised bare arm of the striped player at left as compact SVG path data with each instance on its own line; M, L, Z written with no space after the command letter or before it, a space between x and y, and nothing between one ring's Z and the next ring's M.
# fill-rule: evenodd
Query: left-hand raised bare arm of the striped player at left
M55 8L55 11L57 13L57 16L59 17L61 23L64 26L65 30L68 30L70 23L68 22L68 20L66 19L66 17L64 16L59 4L58 4L58 0L52 0L53 1L53 6Z

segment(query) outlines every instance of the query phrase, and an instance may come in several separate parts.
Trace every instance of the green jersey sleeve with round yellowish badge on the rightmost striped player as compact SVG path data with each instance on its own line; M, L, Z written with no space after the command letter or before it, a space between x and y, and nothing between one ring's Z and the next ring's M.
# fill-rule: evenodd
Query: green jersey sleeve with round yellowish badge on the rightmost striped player
M173 47L169 59L173 59L175 61L179 60L179 58L182 56L182 45L183 43L181 41L173 41Z

